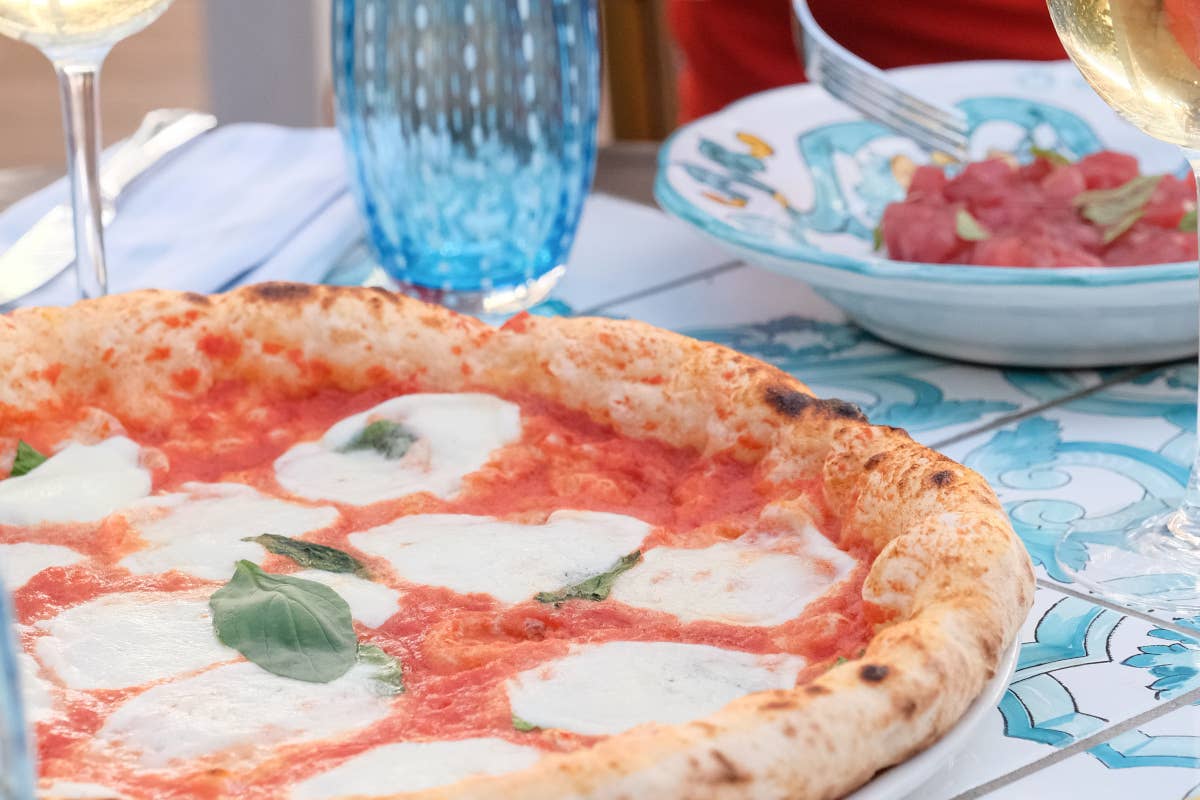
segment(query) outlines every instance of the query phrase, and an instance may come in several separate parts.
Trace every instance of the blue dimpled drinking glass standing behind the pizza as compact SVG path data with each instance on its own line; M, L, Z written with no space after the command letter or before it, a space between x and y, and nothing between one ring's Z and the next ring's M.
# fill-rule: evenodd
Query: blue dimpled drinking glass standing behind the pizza
M384 270L468 312L545 297L595 166L595 0L334 0L332 37Z

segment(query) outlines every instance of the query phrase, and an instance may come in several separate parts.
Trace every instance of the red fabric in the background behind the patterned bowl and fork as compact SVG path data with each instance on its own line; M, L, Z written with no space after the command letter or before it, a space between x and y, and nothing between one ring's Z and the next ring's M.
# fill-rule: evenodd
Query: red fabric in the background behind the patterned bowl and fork
M1045 0L809 0L821 26L880 67L1063 59ZM790 0L668 0L684 64L680 121L804 80Z

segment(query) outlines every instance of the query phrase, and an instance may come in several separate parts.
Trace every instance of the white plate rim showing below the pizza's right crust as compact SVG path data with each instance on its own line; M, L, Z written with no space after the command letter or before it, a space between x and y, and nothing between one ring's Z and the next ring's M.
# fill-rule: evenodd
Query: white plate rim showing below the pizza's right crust
M958 721L949 732L934 742L929 748L923 750L902 764L884 770L875 776L870 783L858 792L846 796L846 800L901 800L902 798L916 798L916 792L925 783L929 783L940 772L946 771L953 763L954 757L971 745L976 730L980 723L996 711L1000 698L1008 691L1008 682L1016 670L1016 654L1020 650L1018 644L1008 648L1000 660L1000 668L983 687L979 697L976 698L962 718Z

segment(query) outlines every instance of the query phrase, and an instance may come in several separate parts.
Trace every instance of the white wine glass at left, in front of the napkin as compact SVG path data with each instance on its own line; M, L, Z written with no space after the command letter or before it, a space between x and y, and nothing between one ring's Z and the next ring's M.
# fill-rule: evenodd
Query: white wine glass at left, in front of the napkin
M29 42L54 64L62 100L80 297L108 290L100 158L100 65L116 42L172 0L0 0L0 34Z

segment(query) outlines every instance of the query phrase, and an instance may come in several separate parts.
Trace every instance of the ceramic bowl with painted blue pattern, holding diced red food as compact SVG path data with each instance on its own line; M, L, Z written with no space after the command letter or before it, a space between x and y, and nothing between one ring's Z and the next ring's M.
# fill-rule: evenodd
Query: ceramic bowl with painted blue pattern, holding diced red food
M1121 120L1069 62L896 70L902 85L962 109L971 158L1075 157L1102 149L1142 173L1186 174L1177 149ZM997 267L898 261L874 230L900 179L937 160L817 86L742 100L677 131L659 155L668 212L751 264L805 281L881 338L988 363L1082 367L1196 351L1195 263Z

